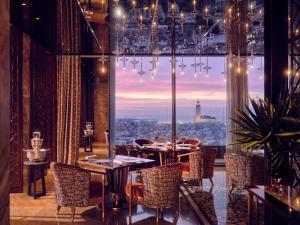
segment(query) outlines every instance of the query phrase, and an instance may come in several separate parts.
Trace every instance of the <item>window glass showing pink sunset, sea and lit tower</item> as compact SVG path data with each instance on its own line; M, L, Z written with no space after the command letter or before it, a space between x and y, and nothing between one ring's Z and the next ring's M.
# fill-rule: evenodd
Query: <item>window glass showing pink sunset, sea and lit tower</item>
M115 143L132 144L136 138L171 141L170 57L160 57L154 72L152 57L127 59L125 66L122 63L116 66ZM130 63L134 59L138 61L135 69ZM203 145L225 146L226 57L179 56L176 59L177 138L198 138ZM210 69L197 67L195 72L195 60L197 64L200 60L208 62ZM248 61L249 97L263 97L263 58L257 56L253 63L250 58ZM183 72L182 65L185 65Z

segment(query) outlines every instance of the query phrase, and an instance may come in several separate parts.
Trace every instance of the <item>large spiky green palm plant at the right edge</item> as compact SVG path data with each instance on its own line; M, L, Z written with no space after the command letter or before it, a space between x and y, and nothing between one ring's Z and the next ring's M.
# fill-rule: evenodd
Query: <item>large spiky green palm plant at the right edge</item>
M250 98L249 106L245 110L237 110L237 119L232 119L237 125L232 131L237 137L233 144L249 151L264 148L267 151L270 176L276 179L287 178L285 183L289 184L299 184L291 164L300 153L298 85L299 82L293 86L285 85L276 103L266 98Z

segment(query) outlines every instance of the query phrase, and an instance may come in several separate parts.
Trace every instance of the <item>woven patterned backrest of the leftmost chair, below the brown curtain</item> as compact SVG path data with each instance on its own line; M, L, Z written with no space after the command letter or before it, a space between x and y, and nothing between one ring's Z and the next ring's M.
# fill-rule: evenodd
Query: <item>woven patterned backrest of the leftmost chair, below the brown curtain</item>
M89 202L90 173L76 166L51 162L57 204L86 207Z

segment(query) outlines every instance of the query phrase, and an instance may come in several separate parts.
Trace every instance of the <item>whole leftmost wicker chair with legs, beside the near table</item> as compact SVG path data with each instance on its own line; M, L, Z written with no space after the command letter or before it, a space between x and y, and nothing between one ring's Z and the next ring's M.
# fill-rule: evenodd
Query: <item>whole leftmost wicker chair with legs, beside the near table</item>
M57 214L61 207L69 207L73 222L76 207L101 203L102 218L104 219L104 175L101 175L101 184L92 183L90 172L76 166L51 162L50 168L56 190Z

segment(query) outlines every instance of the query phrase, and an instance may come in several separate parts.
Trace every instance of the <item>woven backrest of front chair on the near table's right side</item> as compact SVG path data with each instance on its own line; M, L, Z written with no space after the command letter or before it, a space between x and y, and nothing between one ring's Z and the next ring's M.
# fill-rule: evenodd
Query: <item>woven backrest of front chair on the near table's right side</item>
M181 176L181 163L142 170L144 204L150 208L177 206Z

